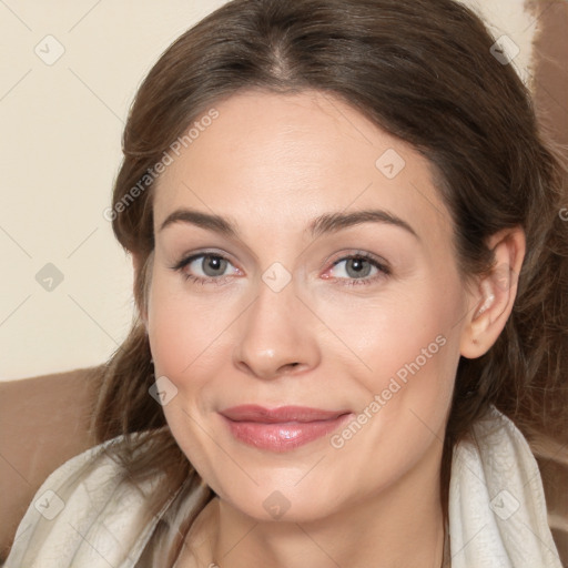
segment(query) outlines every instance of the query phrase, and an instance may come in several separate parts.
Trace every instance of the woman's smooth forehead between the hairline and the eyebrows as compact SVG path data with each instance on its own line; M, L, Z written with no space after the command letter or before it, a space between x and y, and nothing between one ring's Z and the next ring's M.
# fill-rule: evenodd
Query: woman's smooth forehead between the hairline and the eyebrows
M339 99L247 91L214 111L171 153L154 229L182 206L272 231L300 230L324 212L381 207L447 240L449 215L427 160Z

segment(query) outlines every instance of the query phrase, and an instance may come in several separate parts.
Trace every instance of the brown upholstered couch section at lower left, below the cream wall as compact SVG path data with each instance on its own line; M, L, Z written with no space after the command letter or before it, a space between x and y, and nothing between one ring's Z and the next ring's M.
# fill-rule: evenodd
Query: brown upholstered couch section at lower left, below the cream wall
M0 562L48 475L95 445L95 368L0 383Z

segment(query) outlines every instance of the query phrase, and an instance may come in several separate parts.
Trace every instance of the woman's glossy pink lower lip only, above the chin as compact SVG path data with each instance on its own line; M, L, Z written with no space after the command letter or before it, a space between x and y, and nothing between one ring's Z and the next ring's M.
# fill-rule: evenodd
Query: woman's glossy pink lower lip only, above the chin
M353 415L344 414L331 420L285 422L265 424L235 422L222 416L233 436L250 446L272 452L287 452L308 444L339 428Z

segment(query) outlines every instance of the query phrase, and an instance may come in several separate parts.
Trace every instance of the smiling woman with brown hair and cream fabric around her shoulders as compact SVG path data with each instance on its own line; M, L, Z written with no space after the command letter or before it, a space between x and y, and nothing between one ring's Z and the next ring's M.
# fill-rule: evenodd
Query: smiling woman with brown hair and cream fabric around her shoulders
M562 170L450 0L234 0L141 85L140 318L8 567L561 566ZM106 440L106 442L105 442Z

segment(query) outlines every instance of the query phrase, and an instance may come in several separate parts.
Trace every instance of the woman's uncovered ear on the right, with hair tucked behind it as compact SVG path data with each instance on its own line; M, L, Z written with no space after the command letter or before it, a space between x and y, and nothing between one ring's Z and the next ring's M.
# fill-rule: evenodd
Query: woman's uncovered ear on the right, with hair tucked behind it
M495 264L490 274L478 280L470 298L460 339L460 354L467 358L487 353L509 318L525 258L525 232L521 227L500 231L487 245L494 253Z

